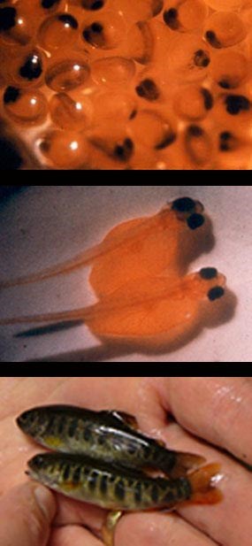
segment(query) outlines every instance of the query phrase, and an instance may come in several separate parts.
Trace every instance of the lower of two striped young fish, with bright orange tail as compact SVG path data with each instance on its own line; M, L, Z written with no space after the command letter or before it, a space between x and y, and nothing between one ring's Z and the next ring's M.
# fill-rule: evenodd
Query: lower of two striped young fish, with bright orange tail
M65 496L110 510L172 509L187 500L207 504L219 500L218 489L211 484L218 465L203 466L175 480L151 478L141 471L68 453L38 454L27 465L27 474L34 480Z

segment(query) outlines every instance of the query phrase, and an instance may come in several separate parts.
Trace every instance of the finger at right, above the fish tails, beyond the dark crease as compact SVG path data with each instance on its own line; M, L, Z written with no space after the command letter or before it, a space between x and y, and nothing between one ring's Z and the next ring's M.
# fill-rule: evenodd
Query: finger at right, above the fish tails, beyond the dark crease
M182 427L252 463L252 385L247 378L171 377L165 391Z

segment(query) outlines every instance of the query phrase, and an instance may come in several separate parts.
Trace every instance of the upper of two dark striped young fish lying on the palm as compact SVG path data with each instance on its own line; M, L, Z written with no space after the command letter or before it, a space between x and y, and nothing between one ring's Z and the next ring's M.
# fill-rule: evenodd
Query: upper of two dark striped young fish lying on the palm
M135 430L133 416L117 411L91 411L49 405L25 411L17 419L23 432L42 446L133 469L158 469L172 478L205 461L191 453L167 450Z

